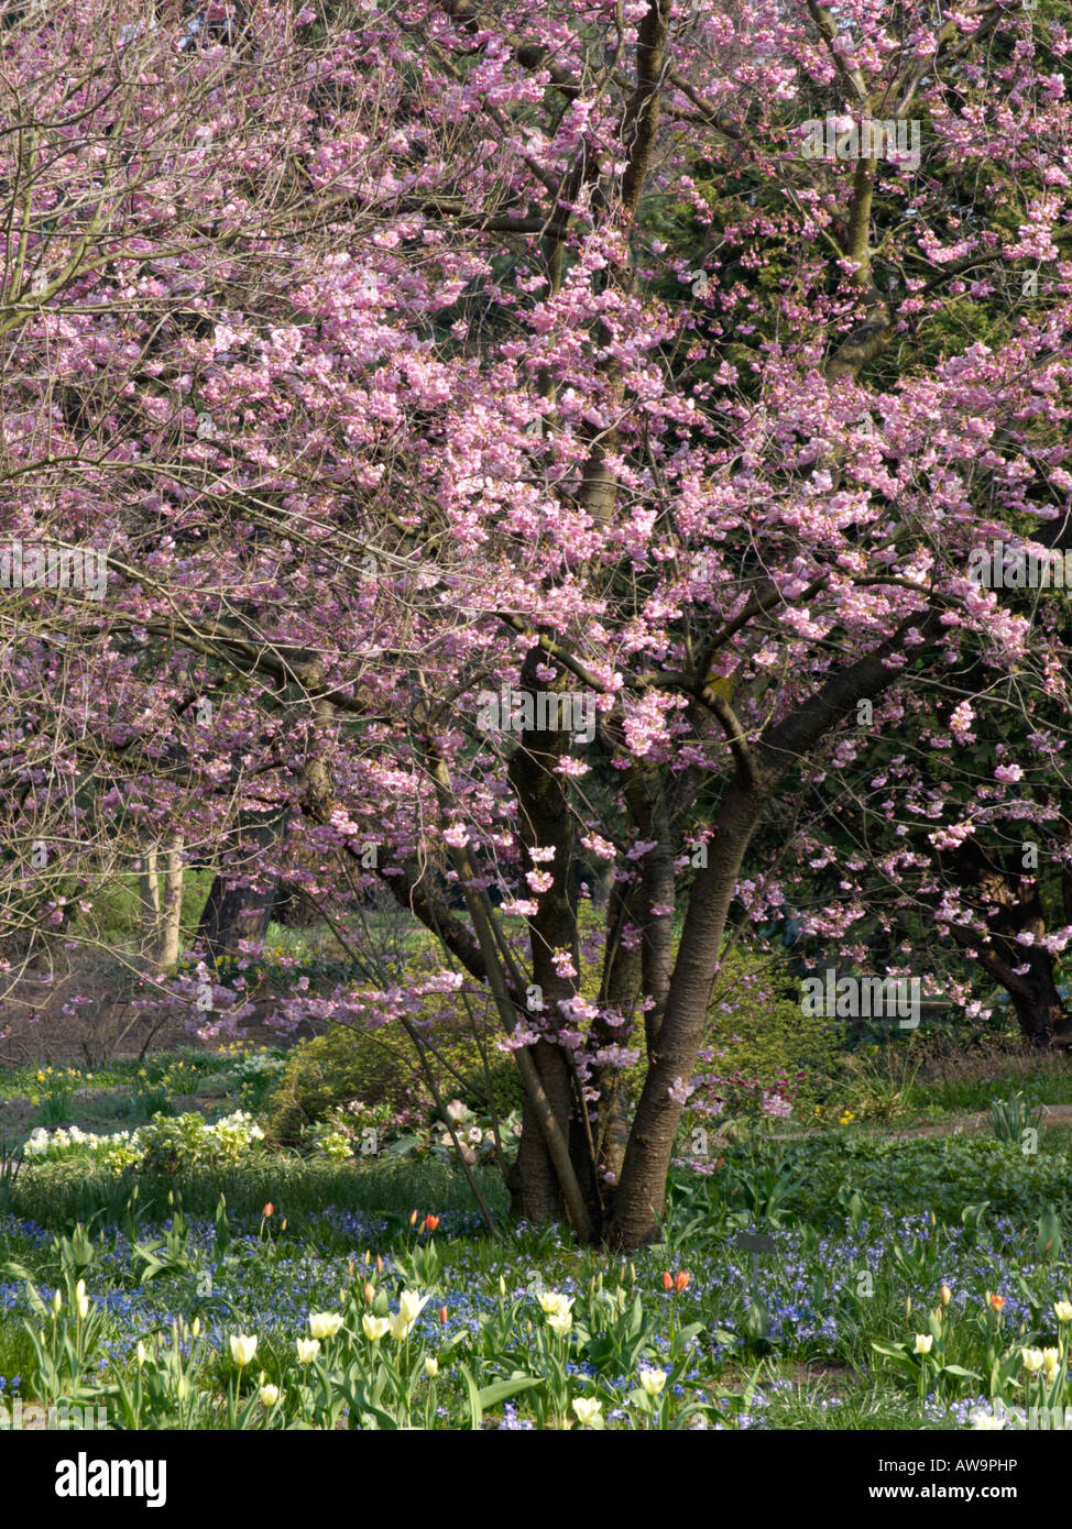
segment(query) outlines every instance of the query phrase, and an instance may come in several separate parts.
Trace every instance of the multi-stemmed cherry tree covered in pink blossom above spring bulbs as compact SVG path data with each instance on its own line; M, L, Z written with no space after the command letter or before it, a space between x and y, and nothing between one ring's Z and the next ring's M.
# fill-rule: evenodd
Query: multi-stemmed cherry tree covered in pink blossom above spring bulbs
M12 980L176 833L335 928L379 884L437 959L280 1024L483 994L514 1209L642 1243L731 916L838 856L814 933L885 878L977 953L944 858L1029 818L1067 862L1066 607L970 563L1072 543L1063 20L0 21Z

